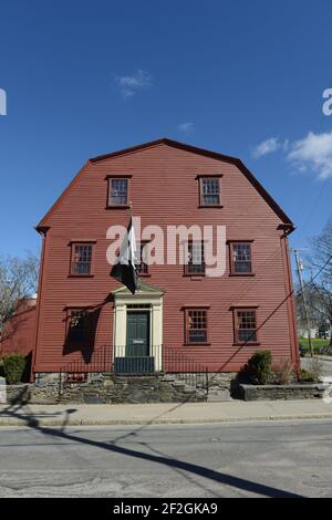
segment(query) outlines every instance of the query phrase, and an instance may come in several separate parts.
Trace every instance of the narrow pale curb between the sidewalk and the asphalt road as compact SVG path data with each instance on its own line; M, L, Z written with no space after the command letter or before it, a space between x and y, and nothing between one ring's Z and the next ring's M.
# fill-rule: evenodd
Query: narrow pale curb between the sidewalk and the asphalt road
M14 419L14 418L4 418L0 419L1 426L25 426L25 427L35 427L35 426L154 426L154 425L199 425L199 424L225 424L225 423L252 423L252 422L270 422L270 420L300 420L300 419L332 419L332 413L326 414L298 414L298 415L270 415L270 416L259 416L259 417L219 417L219 418L207 418L207 419L184 419L184 418L174 418L174 419L70 419L68 422L61 419Z

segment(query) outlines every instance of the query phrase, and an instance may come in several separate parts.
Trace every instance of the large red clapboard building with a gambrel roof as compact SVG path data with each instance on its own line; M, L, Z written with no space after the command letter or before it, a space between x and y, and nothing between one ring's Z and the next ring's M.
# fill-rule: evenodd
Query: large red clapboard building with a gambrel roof
M225 226L225 273L207 277L206 245L188 239L188 264L142 261L133 295L106 260L107 229L127 226L129 202L142 229L165 236L167 226ZM293 223L241 160L168 138L92 158L37 230L34 374L180 370L169 352L235 372L262 349L298 365Z

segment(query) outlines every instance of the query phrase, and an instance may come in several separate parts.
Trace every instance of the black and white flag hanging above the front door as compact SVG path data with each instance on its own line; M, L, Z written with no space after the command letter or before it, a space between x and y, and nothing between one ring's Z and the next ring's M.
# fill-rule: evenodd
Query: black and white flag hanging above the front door
M137 274L136 264L137 262L137 248L135 229L133 226L133 218L131 217L127 232L123 239L120 248L120 254L117 262L114 263L111 270L111 277L115 278L118 282L123 283L128 290L135 294L137 289Z

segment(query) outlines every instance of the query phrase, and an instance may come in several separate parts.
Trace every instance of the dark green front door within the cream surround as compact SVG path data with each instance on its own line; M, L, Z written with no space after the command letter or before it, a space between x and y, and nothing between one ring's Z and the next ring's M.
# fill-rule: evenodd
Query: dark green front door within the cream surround
M126 356L143 357L149 355L149 312L127 312Z

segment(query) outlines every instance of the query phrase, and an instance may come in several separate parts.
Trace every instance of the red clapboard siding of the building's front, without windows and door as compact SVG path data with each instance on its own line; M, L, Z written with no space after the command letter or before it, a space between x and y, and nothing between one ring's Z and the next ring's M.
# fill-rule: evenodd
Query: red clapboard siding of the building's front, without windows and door
M221 175L221 208L199 207L201 175ZM128 211L107 208L107 176L129 176L129 200L142 227L194 223L225 225L227 239L252 240L255 275L190 278L184 266L152 266L148 283L165 290L164 343L186 352L210 371L237 371L258 346L234 345L232 306L257 306L259 349L274 358L297 362L287 239L281 216L258 193L237 164L164 143L90 162L60 202L42 220L45 238L40 319L34 371L54 372L75 353L64 355L66 308L100 305L95 349L113 345L113 303L107 295L120 284L110 278L106 240L110 226L127 225ZM283 214L282 214L283 215ZM93 277L69 277L71 243L94 242ZM185 346L184 306L209 306L209 345ZM278 308L279 306L279 308ZM276 311L276 309L278 309ZM80 353L76 353L80 354Z

